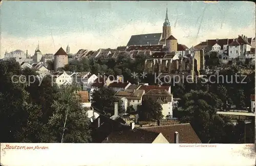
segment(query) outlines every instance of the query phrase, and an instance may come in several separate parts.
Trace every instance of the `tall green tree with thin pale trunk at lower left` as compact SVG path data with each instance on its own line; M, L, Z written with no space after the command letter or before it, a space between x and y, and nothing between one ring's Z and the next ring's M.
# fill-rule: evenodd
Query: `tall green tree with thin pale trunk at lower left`
M89 118L76 94L76 87L61 87L52 105L53 116L47 124L49 142L88 143L91 140Z

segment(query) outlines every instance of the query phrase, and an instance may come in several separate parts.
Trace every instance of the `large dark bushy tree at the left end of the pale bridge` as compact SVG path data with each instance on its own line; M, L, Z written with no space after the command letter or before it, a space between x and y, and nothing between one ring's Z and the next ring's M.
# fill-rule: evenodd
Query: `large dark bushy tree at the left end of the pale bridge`
M212 93L191 90L183 100L185 115L182 123L190 123L203 143L212 139L210 126L215 119L217 110L222 108L222 101Z

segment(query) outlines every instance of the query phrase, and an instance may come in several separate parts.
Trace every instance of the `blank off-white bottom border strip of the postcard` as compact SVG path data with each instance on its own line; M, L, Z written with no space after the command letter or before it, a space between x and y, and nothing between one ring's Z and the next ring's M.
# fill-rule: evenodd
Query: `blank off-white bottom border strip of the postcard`
M15 150L6 145L48 149ZM1 165L255 165L255 145L1 143Z

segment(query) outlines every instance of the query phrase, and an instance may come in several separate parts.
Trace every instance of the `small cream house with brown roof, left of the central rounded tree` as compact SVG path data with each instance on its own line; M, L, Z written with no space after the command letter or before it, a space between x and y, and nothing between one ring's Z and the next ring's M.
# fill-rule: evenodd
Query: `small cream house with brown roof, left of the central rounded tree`
M141 104L144 94L144 90L126 89L125 91L118 91L115 96L122 100L122 106L126 112L127 107L130 105L137 110L137 106Z

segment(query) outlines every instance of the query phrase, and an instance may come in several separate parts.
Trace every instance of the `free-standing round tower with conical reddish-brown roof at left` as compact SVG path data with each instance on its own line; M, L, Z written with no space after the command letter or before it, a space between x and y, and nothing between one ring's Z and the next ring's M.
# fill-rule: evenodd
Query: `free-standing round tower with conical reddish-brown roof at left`
M62 68L68 64L68 54L62 47L54 54L54 70Z

